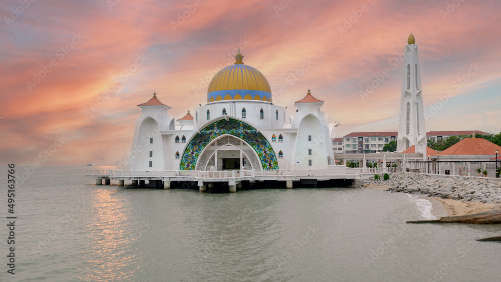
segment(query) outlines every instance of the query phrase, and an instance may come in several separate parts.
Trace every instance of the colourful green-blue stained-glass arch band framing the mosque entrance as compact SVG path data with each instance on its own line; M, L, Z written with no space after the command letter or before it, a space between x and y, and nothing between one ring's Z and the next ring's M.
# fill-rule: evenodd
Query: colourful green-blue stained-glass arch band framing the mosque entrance
M186 146L179 169L194 170L203 148L223 134L233 135L247 142L258 154L263 169L279 169L277 157L268 140L254 127L235 119L222 119L200 130Z

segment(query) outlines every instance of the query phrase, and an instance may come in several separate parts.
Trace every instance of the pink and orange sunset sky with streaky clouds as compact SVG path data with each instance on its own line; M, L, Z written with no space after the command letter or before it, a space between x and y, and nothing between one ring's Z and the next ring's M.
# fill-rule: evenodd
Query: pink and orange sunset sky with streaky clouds
M411 32L426 130L500 131L499 1L31 1L0 4L4 165L119 163L136 105L155 91L181 118L206 103L208 82L238 45L288 114L310 88L341 123L336 137L397 131L398 57Z

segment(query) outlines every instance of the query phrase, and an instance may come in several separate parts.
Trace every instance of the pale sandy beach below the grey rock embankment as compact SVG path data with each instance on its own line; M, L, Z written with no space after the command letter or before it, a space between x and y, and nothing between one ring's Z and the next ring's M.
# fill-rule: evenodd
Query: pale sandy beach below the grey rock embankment
M379 189L389 189L389 185L365 185L363 188L379 188ZM473 213L479 213L484 211L493 210L497 204L495 203L482 203L482 202L462 202L460 200L454 199L442 199L439 197L430 196L420 196L414 194L420 199L426 199L431 203L431 213L437 217L441 218L444 216L455 216L455 215L468 215ZM501 207L498 207L501 208Z

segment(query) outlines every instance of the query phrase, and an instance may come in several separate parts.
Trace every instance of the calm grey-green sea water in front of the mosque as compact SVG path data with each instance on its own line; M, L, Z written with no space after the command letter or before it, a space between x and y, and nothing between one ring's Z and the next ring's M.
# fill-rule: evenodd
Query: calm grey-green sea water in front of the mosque
M501 243L475 241L500 235L501 226L406 224L436 218L431 203L415 195L335 187L138 189L95 185L85 169L40 167L17 186L16 274L7 273L3 219L1 278L499 281L501 274ZM0 177L7 190L6 167Z

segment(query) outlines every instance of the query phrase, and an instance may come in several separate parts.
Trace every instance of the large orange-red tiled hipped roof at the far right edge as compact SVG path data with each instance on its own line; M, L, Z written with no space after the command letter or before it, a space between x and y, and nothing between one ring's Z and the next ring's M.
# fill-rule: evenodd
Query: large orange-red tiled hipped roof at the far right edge
M440 156L465 156L465 155L494 155L494 151L501 152L501 146L483 138L464 138L449 148L439 152Z

